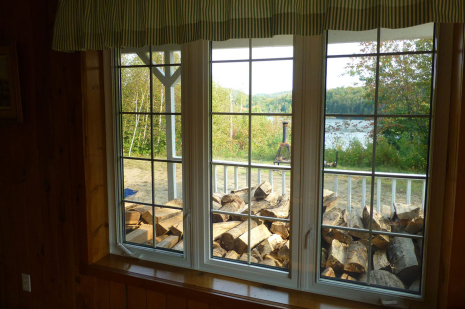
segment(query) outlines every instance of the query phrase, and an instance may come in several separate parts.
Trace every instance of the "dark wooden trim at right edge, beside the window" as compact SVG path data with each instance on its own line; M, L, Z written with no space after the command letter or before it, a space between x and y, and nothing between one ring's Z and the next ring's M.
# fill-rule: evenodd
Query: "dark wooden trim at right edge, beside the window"
M465 295L463 294L465 283L459 276L453 274L456 269L461 267L459 266L461 262L457 262L457 259L461 260L465 256L465 252L463 252L465 248L462 248L461 245L454 245L454 243L460 243L461 240L457 240L457 238L460 239L461 235L465 234L463 229L465 227L465 224L463 224L465 208L461 206L465 201L465 192L462 189L465 186L465 175L463 175L465 165L463 160L460 160L460 157L465 155L465 110L461 108L461 105L465 103L465 96L463 95L463 91L465 91L465 80L463 79L463 70L465 70L465 62L463 61L464 34L464 24L455 24L452 40L452 70L450 72L450 111L439 264L438 308L465 307ZM450 271L452 271L452 274Z

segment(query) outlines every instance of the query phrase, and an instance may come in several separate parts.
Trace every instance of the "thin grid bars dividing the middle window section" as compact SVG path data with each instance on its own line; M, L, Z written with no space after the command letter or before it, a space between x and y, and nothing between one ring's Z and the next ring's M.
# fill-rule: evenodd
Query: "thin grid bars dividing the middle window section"
M248 118L248 137L247 137L247 142L248 142L248 158L247 158L247 163L245 162L225 162L225 161L220 161L220 160L214 160L212 156L212 152L210 151L210 163L209 163L209 172L210 172L210 180L213 179L212 174L213 174L213 168L214 165L223 165L223 166L237 166L237 167L245 167L247 169L247 187L248 187L248 208L247 208L247 214L242 214L242 213L236 213L236 212L229 212L229 211L221 211L221 210L214 210L211 208L212 205L212 194L213 193L213 183L210 185L210 194L209 194L209 204L210 204L210 211L209 211L209 221L210 221L210 234L212 234L212 214L213 213L222 213L222 214L228 214L228 215L234 215L234 216L242 216L242 217L247 217L248 224L247 224L247 261L241 261L241 260L234 260L235 262L239 263L247 263L251 264L252 262L250 261L250 256L251 256L251 247L250 247L250 227L251 227L251 219L269 219L270 221L280 221L280 222L290 222L290 210L289 210L289 218L274 218L274 217L266 217L266 216L257 216L251 214L251 169L252 168L263 168L263 169L273 169L273 170L282 170L283 172L285 171L291 171L291 166L283 166L283 165L271 165L271 164L257 164L257 163L252 163L251 161L251 129L252 129L252 116L292 116L292 113L268 113L268 112L252 112L252 63L253 62L259 62L259 61L274 61L274 60L293 60L293 57L276 57L276 58L257 58L254 59L252 58L252 39L248 39L248 59L234 59L234 60L211 60L212 56L212 42L210 41L209 43L209 70L210 70L210 79L212 78L212 64L213 63L231 63L231 62L248 62L248 112L217 112L217 111L212 111L212 104L211 104L211 89L212 89L212 82L210 80L209 82L209 90L210 90L210 104L209 104L209 126L210 126L210 132L209 132L209 146L210 149L212 148L212 115L240 115L240 116L247 116ZM213 181L216 181L214 179ZM258 183L259 184L259 183ZM225 192L227 193L227 192ZM219 259L219 260L227 260L230 261L230 259L225 258L225 257L219 257L219 256L213 256L212 255L212 239L210 239L210 257ZM259 264L263 268L280 268L280 267L273 267L273 266L268 266L264 264ZM280 268L280 269L285 269L286 271L288 270L287 268Z

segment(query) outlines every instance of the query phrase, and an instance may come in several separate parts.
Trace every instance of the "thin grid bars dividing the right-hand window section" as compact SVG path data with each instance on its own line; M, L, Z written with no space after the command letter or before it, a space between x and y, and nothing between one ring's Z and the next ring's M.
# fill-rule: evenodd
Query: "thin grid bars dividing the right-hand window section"
M375 53L357 53L357 54L341 54L341 55L327 55L326 51L326 61L329 58L354 58L354 57L365 57L365 56L376 56L376 71L375 71L375 93L374 93L374 110L373 113L365 113L365 114L356 114L356 113L326 113L326 108L324 106L324 115L323 115L323 128L325 132L325 123L326 123L326 117L331 116L331 117L372 117L373 119L373 150L372 150L372 157L371 157L371 171L351 171L351 170L341 170L341 169L327 169L325 167L322 168L322 179L324 179L324 174L334 174L334 176L337 175L362 175L366 177L370 177L371 183L370 183L370 201L369 201L369 227L366 228L353 228L353 227L346 227L346 226L337 226L337 225L327 225L327 224L321 224L320 225L320 231L322 231L323 228L333 228L333 229L339 229L339 230L346 230L346 231L361 231L361 232L366 232L368 233L368 245L367 245L367 270L366 271L366 282L360 282L357 281L357 284L363 284L363 285L371 285L371 286L378 286L381 288L385 289L395 289L393 287L388 287L388 286L380 286L380 285L375 285L372 282L370 282L370 272L371 272L371 253L372 253L372 236L373 234L379 234L379 235L388 235L388 236L399 236L399 237L404 237L404 238L411 238L411 239L423 239L424 238L424 228L425 224L423 224L422 227L422 234L421 235L416 235L416 234L409 234L409 233L396 233L396 232L387 232L387 231L381 231L381 230L373 230L372 229L372 223L373 223L373 206L374 206L374 190L375 190L375 179L379 178L391 178L391 179L398 179L398 178L404 178L408 180L413 180L413 179L418 179L418 180L424 180L425 184L424 186L427 188L427 181L428 181L428 171L429 171L429 150L430 150L430 134L431 134L431 115L432 115L432 92L433 92L433 73L434 73L434 63L435 63L435 46L436 46L436 28L434 27L433 29L433 36L432 36L432 50L421 50L421 51L402 51L402 52L380 52L380 28L377 28L376 32L376 52ZM327 32L326 32L327 34ZM326 49L327 49L327 43L326 43ZM430 82L430 93L429 93L429 113L428 114L386 114L386 113L378 113L378 90L379 90L379 63L380 63L380 57L381 56L390 56L390 55L415 55L415 54L431 54L431 82ZM327 69L327 68L326 68ZM325 74L326 76L326 74ZM326 82L326 78L325 78ZM326 93L326 91L325 91ZM326 94L325 94L326 96ZM325 105L326 105L326 99L325 99ZM427 144L427 160L426 160L426 169L425 169L425 174L401 174L401 173L389 173L389 172L379 172L376 171L376 136L377 136L377 119L378 118L383 118L383 117L389 117L389 118L427 118L428 119L428 144ZM325 151L325 144L324 144L324 139L325 139L325 134L323 134L323 154L322 157L324 158L324 151ZM423 209L426 206L426 194L427 190L424 190L423 192L423 198L422 198L422 207ZM321 187L321 197L323 196L323 186ZM379 199L380 197L376 195L376 198ZM322 198L321 198L322 200ZM322 206L322 202L321 205ZM392 207L392 205L391 205ZM322 213L321 213L322 215ZM426 218L425 218L426 219ZM421 244L421 257L423 258L424 252L424 241L422 241ZM411 293L420 293L421 291L421 279L423 276L423 263L421 262L420 264L420 288L418 292L413 292L409 291ZM321 274L319 275L320 278L323 278ZM339 278L331 278L331 280L340 280ZM342 280L344 283L347 281Z

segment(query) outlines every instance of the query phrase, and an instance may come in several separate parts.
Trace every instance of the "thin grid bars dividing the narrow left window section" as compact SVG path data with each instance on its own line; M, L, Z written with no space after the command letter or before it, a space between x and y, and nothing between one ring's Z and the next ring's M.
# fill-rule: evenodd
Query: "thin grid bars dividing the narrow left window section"
M165 55L166 55L166 52L170 52L170 51L165 51ZM171 51L172 52L172 51ZM156 229L155 229L155 207L163 207L163 208L170 208L170 209L177 209L177 210L181 210L183 211L183 207L177 207L177 206L171 206L171 205L162 205L162 204L158 204L155 202L155 189L154 189L154 163L155 162L164 162L164 163L173 163L173 164L176 164L176 163L182 163L182 157L177 157L177 156L174 156L173 159L159 159L159 158L155 158L154 157L154 153L153 153L153 116L155 115L164 115L164 116L180 116L181 113L180 112L175 112L175 111L172 111L172 112L156 112L156 111L153 111L153 72L152 72L152 69L156 67L175 67L175 66L178 66L179 69L180 69L180 66L181 66L181 63L169 63L169 64L155 64L153 63L153 59L152 59L152 46L148 46L148 60L149 60L149 63L148 64L140 64L140 65L121 65L121 49L117 49L117 52L116 52L116 58L117 58L117 65L116 65L116 68L118 70L118 90L119 90L119 93L118 93L118 97L119 97L119 104L118 104L118 111L117 111L117 114L118 114L118 136L117 136L117 143L118 143L118 171L120 173L120 177L119 177L119 185L118 187L120 188L119 189L119 199L120 201L122 202L121 205L121 217L124 218L124 213L125 213L125 207L124 207L124 204L127 202L127 203L134 203L134 204L140 204L140 205L146 205L146 206L151 206L151 211L152 211L152 239L153 239L153 243L152 245L147 245L147 244L143 244L143 243L134 243L134 242L129 242L129 241L126 241L126 233L124 232L124 225L125 225L125 220L121 220L121 224L122 224L122 239L123 239L123 242L125 243L132 243L132 244L136 244L138 246L142 246L142 247L149 247L149 248L153 248L153 249L156 249L156 250L164 250L164 251L171 251L173 253L179 253L179 251L175 251L175 250L171 250L171 249L167 249L167 248L160 248L160 247L157 247L156 246ZM141 112L141 111L123 111L122 109L122 93L121 93L121 69L122 68L143 68L143 67L147 67L149 69L149 109L150 111L149 112ZM173 85L174 86L174 85ZM163 102L160 102L160 104L163 104ZM165 110L167 108L167 100L165 99ZM122 128L121 128L121 125L120 123L122 123L122 115L148 115L149 118L150 118L150 158L145 158L145 157L135 157L135 156L125 156L123 155L123 152L122 152ZM174 132L173 132L174 134ZM166 137L167 138L167 137ZM168 153L166 154L168 156ZM124 198L124 168L123 168L123 160L124 159L130 159L130 160L140 160L140 161L149 161L150 162L150 180L151 180L151 185L150 185L150 190L151 190L151 203L148 203L148 202L143 202L143 201L134 201L134 200L129 200L129 199L125 199ZM175 166L175 165L174 165ZM176 181L176 179L174 179L173 181ZM169 184L168 184L169 185ZM169 199L169 198L168 198ZM179 239L180 240L180 239Z

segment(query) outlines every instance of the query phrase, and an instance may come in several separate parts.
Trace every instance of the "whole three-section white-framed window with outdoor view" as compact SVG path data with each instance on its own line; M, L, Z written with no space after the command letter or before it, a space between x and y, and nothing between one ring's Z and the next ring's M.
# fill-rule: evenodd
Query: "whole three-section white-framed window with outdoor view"
M447 116L436 41L425 24L115 51L114 251L371 303L427 299Z

